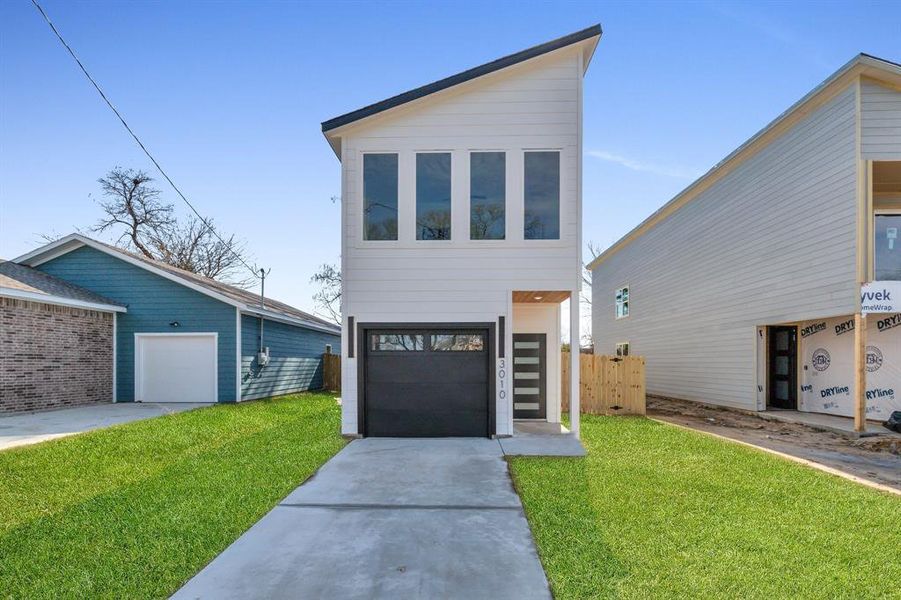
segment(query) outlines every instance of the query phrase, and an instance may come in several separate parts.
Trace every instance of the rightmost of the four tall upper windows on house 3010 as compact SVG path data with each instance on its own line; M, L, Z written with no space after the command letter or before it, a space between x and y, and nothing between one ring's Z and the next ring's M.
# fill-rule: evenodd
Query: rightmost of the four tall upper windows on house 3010
M525 153L527 240L560 239L560 153Z

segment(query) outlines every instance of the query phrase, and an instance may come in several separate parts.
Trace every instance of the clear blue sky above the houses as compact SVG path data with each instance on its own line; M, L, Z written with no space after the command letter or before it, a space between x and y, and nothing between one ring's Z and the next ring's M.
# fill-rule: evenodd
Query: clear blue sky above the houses
M600 22L584 238L605 247L858 52L901 61L897 2L43 5L186 195L272 268L269 295L306 309L339 254L325 119ZM152 171L31 3L0 2L0 256L91 225L116 165Z

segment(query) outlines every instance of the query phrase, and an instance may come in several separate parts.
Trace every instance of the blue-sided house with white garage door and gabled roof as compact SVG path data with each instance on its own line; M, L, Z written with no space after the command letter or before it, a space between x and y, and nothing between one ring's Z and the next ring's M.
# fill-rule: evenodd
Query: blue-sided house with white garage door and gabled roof
M127 307L113 323L114 401L235 402L319 389L322 354L340 353L332 323L79 234L15 262Z

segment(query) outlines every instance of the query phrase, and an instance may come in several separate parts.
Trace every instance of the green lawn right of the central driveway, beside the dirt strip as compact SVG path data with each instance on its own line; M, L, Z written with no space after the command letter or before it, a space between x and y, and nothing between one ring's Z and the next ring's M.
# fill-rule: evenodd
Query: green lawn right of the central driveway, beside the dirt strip
M641 418L510 459L556 598L901 598L901 499Z

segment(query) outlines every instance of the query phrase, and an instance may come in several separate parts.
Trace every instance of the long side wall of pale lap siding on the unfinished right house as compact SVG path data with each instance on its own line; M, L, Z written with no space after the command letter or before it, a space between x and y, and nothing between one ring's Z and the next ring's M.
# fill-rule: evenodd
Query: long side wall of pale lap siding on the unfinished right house
M756 409L758 325L856 310L855 117L852 85L602 261L595 352L627 341L650 393Z

